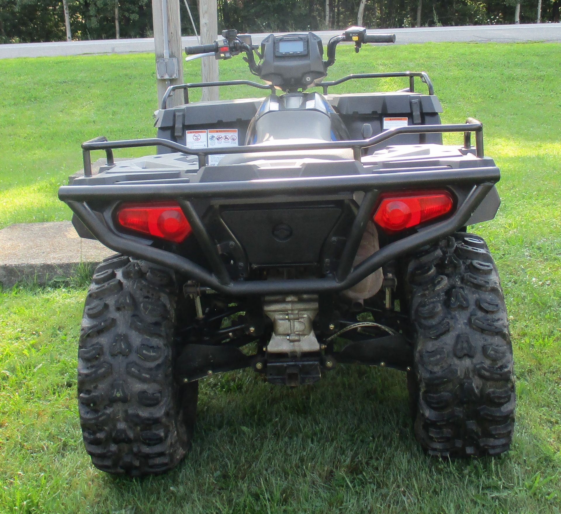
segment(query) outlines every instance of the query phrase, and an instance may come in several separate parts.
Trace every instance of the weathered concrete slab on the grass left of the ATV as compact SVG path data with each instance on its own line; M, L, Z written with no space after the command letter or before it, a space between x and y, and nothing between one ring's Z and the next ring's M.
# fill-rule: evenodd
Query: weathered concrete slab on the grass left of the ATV
M112 254L99 241L79 237L70 221L13 224L0 230L0 284L70 278L80 264L93 269Z

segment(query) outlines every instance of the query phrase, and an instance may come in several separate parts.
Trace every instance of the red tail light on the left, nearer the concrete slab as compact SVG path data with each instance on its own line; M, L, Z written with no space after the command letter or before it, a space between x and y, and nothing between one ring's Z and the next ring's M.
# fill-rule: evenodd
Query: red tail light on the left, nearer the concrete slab
M191 233L185 214L173 201L123 204L118 210L117 220L124 228L176 243Z

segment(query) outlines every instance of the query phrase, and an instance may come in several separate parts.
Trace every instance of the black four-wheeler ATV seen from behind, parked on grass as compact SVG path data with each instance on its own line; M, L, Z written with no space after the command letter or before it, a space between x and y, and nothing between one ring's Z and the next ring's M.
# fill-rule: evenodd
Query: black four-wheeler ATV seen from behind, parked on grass
M118 253L95 270L79 341L80 423L100 470L172 469L190 446L199 380L242 368L290 387L344 364L403 370L426 452L508 450L507 312L489 248L467 232L500 203L482 125L442 124L425 72L324 80L338 43L394 40L350 27L324 60L311 32L254 45L227 30L187 59L243 54L262 82L173 85L157 137L82 144L84 176L58 196L81 237ZM380 77L408 87L328 93ZM190 89L220 85L268 96L189 103ZM173 95L184 103L168 108ZM443 132L463 144L443 145ZM114 160L139 146L157 155ZM93 150L107 155L98 173Z

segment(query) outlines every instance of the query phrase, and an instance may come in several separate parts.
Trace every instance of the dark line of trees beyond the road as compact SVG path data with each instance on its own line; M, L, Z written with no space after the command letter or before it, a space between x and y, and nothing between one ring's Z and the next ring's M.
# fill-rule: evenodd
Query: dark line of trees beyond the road
M182 34L199 24L199 0L180 0ZM261 33L559 22L561 0L218 0L219 30ZM0 43L145 38L151 0L0 0Z

